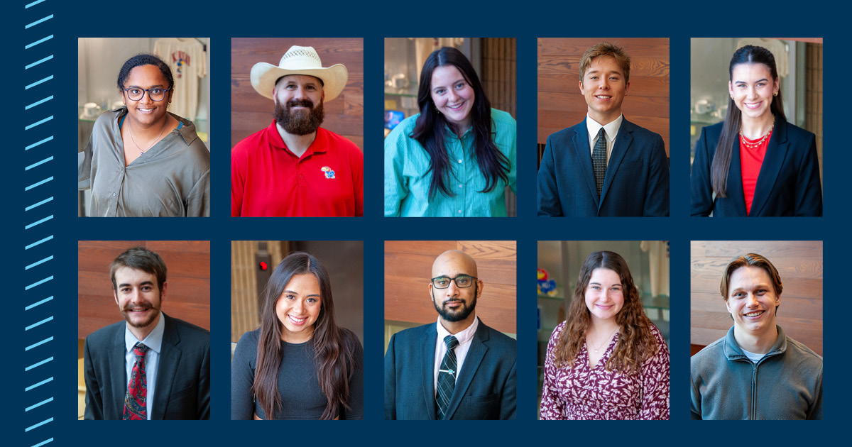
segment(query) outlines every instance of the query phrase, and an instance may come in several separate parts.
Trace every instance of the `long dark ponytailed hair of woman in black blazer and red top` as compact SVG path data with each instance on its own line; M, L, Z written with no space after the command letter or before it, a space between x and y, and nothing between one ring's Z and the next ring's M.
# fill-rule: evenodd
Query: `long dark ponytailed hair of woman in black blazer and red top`
M734 57L731 58L731 64L728 66L728 82L734 82L734 66L740 64L763 64L769 68L769 73L772 75L772 81L778 81L778 69L775 68L775 56L769 49L756 47L754 45L746 45L745 47L734 51ZM781 90L778 90L778 95L772 97L772 104L769 106L770 111L775 115L778 123L785 123L784 103L781 101ZM725 116L725 123L722 126L722 135L719 137L719 144L716 146L716 155L713 156L713 163L710 166L710 180L713 186L713 192L716 196L723 198L728 196L728 170L731 169L731 158L734 152L734 142L740 136L740 125L742 124L742 112L740 108L734 104L733 98L728 98L728 115Z

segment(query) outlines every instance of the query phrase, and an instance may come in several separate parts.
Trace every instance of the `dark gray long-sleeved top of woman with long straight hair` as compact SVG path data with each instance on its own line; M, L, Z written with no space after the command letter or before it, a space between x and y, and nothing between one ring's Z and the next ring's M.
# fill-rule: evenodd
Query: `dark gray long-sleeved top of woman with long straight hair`
M353 349L356 365L352 367L349 381L349 409L340 409L340 419L364 419L364 350L358 337L350 330L342 330L343 348ZM260 330L246 332L237 343L231 361L231 419L252 419L256 414L267 419L251 393L255 382L257 340ZM284 355L278 371L278 392L281 408L275 409L275 419L317 420L322 417L328 399L320 389L317 375L316 351L313 341L293 344L281 341Z

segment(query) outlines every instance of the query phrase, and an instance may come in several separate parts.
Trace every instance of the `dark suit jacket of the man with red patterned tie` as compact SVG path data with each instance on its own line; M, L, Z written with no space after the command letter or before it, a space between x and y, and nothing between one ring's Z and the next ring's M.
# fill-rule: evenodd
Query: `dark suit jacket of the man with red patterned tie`
M165 328L151 419L210 419L210 331L165 313L162 316ZM83 419L122 419L128 381L125 326L120 321L86 337Z

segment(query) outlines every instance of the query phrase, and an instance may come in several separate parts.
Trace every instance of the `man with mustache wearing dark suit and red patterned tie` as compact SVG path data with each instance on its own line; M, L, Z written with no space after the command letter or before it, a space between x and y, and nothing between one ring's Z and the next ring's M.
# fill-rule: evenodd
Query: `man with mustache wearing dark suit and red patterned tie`
M210 331L161 312L166 266L143 247L110 265L122 322L83 347L84 419L210 419Z

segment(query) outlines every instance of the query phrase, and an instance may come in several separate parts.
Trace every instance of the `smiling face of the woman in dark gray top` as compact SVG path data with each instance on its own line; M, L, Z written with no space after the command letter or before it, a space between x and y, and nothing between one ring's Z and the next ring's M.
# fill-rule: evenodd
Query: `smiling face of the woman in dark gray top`
M310 273L293 275L275 303L275 315L281 322L281 340L303 343L314 335L320 317L320 282Z

